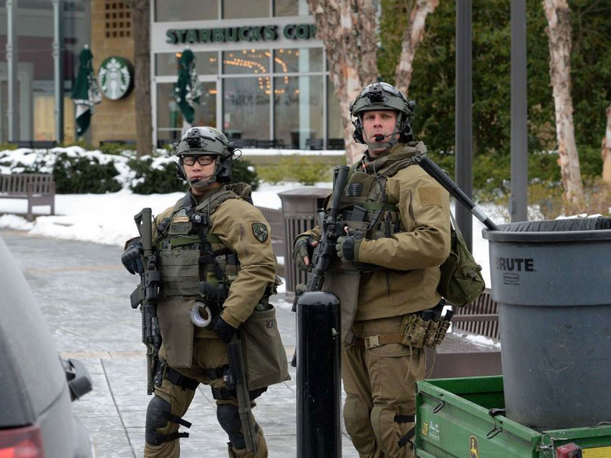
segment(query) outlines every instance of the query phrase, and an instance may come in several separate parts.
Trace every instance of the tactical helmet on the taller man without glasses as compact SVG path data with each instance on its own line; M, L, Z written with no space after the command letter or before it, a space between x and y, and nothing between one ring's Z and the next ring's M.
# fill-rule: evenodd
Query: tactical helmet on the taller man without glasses
M353 103L349 105L350 117L354 117L353 138L357 143L365 144L363 138L363 114L365 111L393 110L397 112L396 133L400 134L399 142L405 143L414 139L411 118L416 103L408 100L403 93L387 82L374 82L365 86ZM390 144L396 143L393 139Z

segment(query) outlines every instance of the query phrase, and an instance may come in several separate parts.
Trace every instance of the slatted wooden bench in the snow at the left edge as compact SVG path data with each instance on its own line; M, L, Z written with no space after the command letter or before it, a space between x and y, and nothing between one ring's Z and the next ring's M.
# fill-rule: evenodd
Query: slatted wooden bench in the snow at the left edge
M0 174L0 198L27 199L27 220L34 220L32 207L50 205L55 214L55 182L49 173Z

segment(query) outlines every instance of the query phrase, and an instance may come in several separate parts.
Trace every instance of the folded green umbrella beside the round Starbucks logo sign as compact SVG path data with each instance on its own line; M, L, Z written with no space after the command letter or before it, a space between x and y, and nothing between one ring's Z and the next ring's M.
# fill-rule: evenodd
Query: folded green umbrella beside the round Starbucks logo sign
M89 128L93 105L102 101L97 79L93 75L93 54L85 45L79 53L79 68L76 75L75 85L72 88L72 100L76 105L76 135L81 137Z

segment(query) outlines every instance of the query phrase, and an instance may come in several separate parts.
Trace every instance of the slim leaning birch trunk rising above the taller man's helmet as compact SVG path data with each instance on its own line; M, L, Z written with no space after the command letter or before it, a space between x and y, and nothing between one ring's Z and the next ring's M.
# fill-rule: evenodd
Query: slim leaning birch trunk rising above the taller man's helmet
M422 42L426 15L433 13L439 5L439 0L417 0L414 9L409 15L408 28L403 34L401 44L401 55L397 70L395 70L395 81L397 89L408 96L409 84L412 81L412 62L418 43Z

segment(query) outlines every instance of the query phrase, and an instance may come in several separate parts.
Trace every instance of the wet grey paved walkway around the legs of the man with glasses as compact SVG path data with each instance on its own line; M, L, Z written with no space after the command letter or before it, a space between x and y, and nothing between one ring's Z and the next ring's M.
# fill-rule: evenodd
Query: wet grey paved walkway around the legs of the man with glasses
M139 278L120 263L122 249L0 230L45 314L62 357L85 363L93 391L73 407L93 436L101 458L142 457L146 394L141 315L130 308ZM273 298L287 355L295 346L292 298ZM295 369L291 380L269 387L257 399L255 418L265 431L269 456L296 456ZM216 421L210 388L200 385L185 419L191 436L181 439L181 457L227 456L227 435ZM184 428L181 428L183 430ZM343 457L357 457L345 431Z

